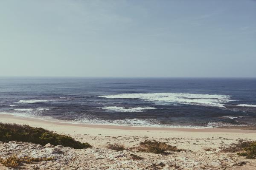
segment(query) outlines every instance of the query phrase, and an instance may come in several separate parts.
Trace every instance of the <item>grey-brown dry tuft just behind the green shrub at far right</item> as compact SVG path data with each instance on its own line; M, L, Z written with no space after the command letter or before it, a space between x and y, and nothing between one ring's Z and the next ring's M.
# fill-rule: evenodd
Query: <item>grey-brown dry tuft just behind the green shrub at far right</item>
M229 144L228 146L220 146L221 152L239 152L243 151L244 148L250 147L253 141L244 141L243 139L237 140L237 142Z

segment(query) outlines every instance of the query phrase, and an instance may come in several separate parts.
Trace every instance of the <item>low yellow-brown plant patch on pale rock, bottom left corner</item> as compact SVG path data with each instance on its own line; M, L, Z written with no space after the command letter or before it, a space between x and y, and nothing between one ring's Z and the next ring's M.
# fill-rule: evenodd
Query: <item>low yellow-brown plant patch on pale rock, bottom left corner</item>
M13 155L6 159L0 158L0 163L6 167L18 167L21 163L31 164L32 162L50 161L53 159L54 159L53 157L32 158L29 156L18 158L16 155Z

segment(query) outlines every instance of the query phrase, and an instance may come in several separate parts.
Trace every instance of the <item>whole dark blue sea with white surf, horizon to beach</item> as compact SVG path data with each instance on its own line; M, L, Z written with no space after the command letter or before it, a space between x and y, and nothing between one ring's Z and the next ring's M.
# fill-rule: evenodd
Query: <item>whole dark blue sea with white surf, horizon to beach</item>
M0 78L0 113L143 127L256 124L256 79Z

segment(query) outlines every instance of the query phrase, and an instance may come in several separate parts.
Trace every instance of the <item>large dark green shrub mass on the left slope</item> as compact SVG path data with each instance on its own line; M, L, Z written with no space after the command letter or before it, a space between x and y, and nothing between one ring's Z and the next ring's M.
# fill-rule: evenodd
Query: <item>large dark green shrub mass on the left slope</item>
M47 143L53 145L63 145L64 147L73 147L75 149L82 149L92 147L88 143L81 143L70 136L59 135L52 131L30 127L28 125L0 123L0 141L19 141L32 142L35 144L45 145Z

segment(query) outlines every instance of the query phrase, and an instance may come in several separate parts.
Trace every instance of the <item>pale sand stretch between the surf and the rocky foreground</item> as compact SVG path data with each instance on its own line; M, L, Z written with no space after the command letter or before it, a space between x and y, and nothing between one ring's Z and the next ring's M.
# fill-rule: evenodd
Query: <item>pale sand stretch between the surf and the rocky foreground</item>
M256 140L256 130L84 125L51 122L7 114L0 114L0 122L42 127L56 133L72 136L81 142L88 142L94 147L105 147L106 144L118 142L131 147L138 146L144 140L154 139L175 145L178 148L201 150L204 147L218 148L221 144L230 144L237 139Z

